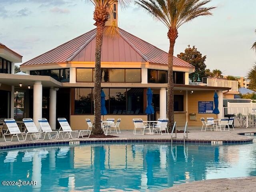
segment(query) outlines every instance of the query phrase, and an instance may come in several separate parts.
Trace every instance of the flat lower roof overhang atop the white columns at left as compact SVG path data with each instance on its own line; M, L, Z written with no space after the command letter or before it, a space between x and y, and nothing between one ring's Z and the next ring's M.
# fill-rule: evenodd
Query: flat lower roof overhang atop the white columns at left
M50 76L38 75L17 75L17 74L1 74L0 83L18 87L22 83L22 87L33 86L34 82L41 81L43 87L61 87L58 82Z

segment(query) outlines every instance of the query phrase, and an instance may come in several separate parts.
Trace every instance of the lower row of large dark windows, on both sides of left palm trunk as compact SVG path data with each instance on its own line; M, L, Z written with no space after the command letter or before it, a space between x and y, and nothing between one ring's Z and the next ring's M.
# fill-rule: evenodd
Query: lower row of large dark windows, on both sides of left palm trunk
M143 114L143 88L104 88L108 114ZM93 114L93 89L74 89L74 114Z

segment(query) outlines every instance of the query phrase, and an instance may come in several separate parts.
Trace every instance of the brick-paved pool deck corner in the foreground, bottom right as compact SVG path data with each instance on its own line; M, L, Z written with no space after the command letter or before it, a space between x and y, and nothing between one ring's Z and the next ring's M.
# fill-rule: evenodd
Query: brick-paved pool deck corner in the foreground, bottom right
M160 192L254 192L256 177L201 180L178 184Z

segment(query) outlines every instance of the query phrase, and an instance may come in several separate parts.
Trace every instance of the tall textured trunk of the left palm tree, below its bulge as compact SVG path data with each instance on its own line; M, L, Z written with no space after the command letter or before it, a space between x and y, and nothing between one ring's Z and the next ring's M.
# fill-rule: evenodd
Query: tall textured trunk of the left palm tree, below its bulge
M94 125L92 128L92 134L103 134L103 130L100 126L101 117L101 48L103 39L104 24L99 23L96 31L96 48L95 48L95 69L94 69Z

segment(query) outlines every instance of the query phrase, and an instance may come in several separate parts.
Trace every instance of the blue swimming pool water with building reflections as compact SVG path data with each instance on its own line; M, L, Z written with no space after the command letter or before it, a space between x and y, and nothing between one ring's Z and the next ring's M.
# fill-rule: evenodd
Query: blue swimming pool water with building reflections
M110 144L0 152L0 191L147 191L195 180L256 176L256 144Z

